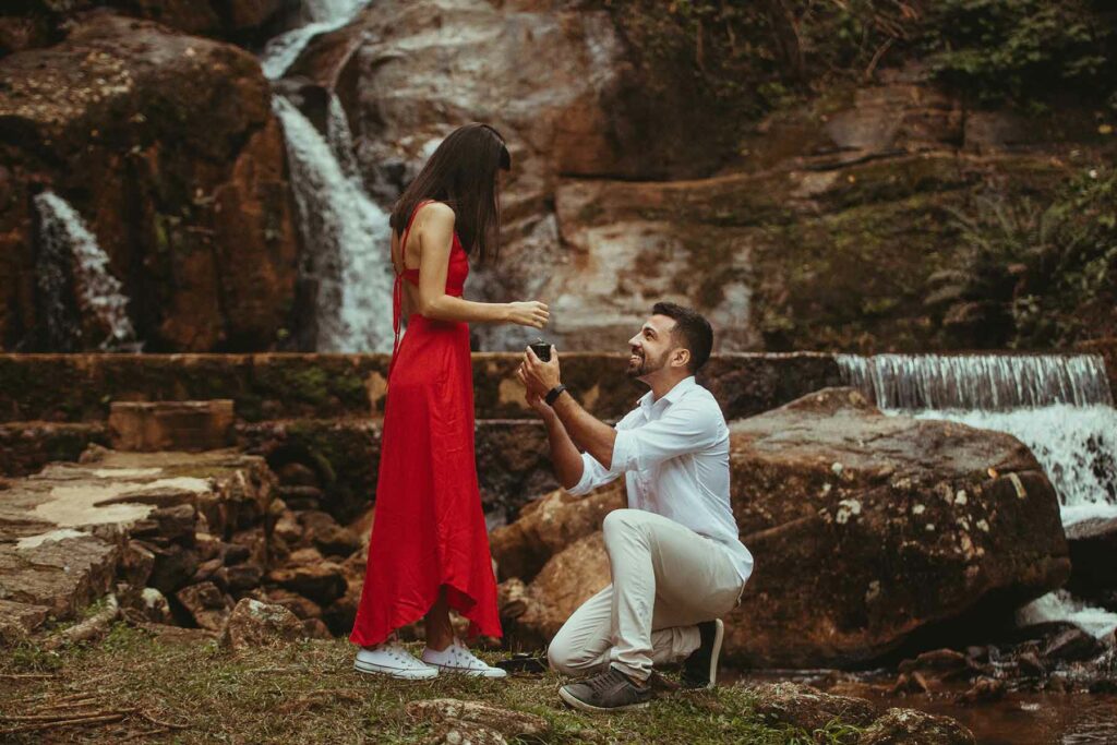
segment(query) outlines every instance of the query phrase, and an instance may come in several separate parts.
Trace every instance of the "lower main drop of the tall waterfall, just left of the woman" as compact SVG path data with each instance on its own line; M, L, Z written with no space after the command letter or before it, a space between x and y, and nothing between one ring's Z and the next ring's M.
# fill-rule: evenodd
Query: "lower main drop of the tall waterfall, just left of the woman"
M369 198L356 175L344 172L333 149L298 108L281 96L271 105L287 140L299 227L312 256L309 276L318 284L317 350L388 351L393 278L389 216Z

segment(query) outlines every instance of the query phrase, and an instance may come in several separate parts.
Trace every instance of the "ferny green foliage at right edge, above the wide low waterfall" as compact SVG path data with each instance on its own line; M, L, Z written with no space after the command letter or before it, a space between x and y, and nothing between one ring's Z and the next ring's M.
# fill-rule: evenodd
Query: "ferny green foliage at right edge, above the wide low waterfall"
M1117 172L1088 169L1043 207L980 195L954 212L966 246L967 299L1001 304L1015 348L1065 346L1117 325ZM1006 293L991 287L1008 287Z

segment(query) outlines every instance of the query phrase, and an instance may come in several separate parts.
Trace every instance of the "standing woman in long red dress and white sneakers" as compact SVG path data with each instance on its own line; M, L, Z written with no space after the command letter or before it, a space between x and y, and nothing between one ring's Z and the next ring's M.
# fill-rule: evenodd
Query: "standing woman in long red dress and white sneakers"
M493 127L452 132L397 202L391 217L395 266L395 345L376 484L369 564L350 639L354 667L422 679L439 670L503 677L454 636L450 609L469 619L470 636L500 636L474 460L474 385L469 323L542 328L537 302L461 298L467 256L498 251L499 171L512 166ZM407 334L400 343L400 316ZM412 657L394 632L424 620L427 649Z

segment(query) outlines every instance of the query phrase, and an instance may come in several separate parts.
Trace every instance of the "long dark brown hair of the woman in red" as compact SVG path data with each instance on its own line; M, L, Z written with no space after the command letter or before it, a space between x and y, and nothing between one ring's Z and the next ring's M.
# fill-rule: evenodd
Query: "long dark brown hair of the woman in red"
M390 225L403 232L419 202L436 199L454 209L455 230L467 254L480 260L500 251L500 200L497 169L512 169L500 133L488 124L466 124L442 141L392 208Z

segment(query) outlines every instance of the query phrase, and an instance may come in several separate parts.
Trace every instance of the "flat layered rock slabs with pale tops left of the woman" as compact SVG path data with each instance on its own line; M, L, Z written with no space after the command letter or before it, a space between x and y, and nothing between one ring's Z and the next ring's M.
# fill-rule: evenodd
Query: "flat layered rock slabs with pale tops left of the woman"
M198 625L219 628L228 599L200 567L247 558L214 536L266 514L275 477L262 459L229 451L89 456L0 490L0 599L22 605L16 615L35 625L46 615L73 618L123 582L122 603L143 614L159 614L147 586L174 595Z

